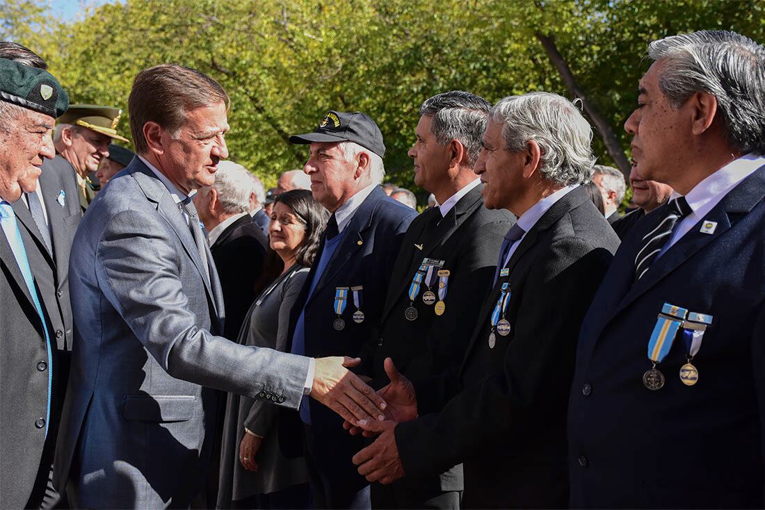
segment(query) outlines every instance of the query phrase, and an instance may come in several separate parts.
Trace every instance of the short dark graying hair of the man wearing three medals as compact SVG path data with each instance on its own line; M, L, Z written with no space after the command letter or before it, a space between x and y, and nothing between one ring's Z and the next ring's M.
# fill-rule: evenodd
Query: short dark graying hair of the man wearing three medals
M481 150L481 138L491 112L491 103L480 96L452 90L437 94L420 106L420 115L428 115L430 130L441 145L459 141L467 151L467 163L475 164Z

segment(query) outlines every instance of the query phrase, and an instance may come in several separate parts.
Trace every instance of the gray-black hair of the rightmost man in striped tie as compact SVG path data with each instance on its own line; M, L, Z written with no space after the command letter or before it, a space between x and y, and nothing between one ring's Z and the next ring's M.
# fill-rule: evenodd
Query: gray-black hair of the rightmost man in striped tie
M741 154L765 154L765 48L731 31L698 31L653 41L659 89L678 109L693 93L715 96L725 138Z

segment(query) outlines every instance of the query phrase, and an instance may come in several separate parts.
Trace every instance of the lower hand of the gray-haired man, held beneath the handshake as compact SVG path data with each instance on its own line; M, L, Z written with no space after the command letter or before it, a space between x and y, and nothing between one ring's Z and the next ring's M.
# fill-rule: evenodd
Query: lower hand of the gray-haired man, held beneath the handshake
M404 477L404 466L396 445L396 423L393 421L360 420L359 426L371 435L377 435L372 444L353 456L358 472L369 482L383 485ZM378 435L379 434L379 435Z

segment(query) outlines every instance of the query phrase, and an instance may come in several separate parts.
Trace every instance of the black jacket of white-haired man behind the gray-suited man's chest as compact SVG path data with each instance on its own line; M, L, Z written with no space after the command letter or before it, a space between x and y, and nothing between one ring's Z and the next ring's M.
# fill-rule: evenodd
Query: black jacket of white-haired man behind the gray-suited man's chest
M236 341L239 328L255 300L255 284L263 271L269 240L249 214L226 227L210 246L223 290L226 320L223 336Z

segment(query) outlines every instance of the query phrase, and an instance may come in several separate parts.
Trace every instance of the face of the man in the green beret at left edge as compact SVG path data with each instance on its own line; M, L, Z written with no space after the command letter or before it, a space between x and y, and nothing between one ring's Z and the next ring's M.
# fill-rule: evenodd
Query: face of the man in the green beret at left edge
M24 109L8 128L0 128L0 197L8 202L37 187L43 158L53 158L55 121L50 115Z

